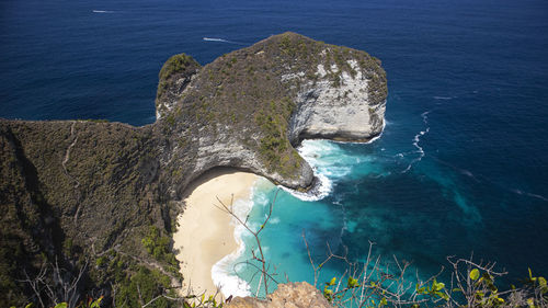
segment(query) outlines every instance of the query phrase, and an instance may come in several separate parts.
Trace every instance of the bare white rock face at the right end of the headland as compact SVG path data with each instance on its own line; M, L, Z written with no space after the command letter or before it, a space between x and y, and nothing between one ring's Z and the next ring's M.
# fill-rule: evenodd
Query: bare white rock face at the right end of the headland
M318 80L301 88L289 128L293 144L304 138L367 141L381 133L386 102L369 102L368 80L355 60L347 64L356 71L354 76L340 71L336 65L329 68L340 76L338 85L328 78L323 65L318 65Z

